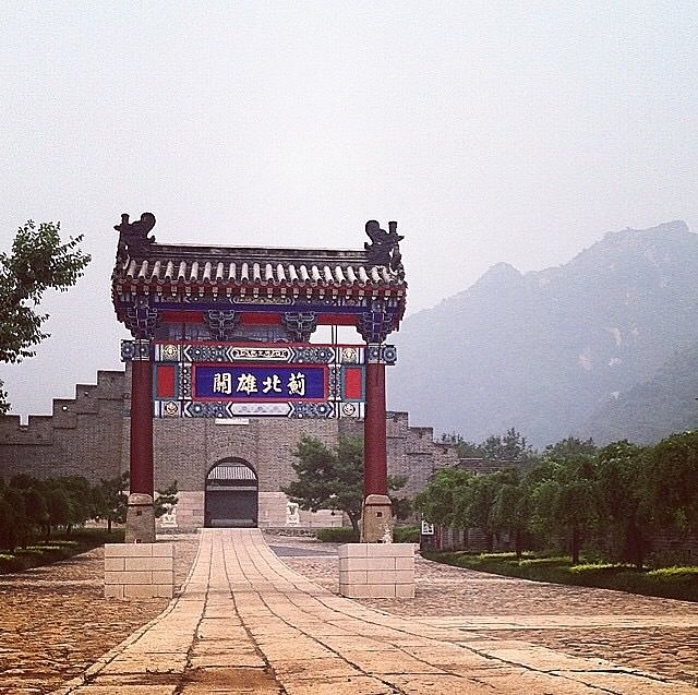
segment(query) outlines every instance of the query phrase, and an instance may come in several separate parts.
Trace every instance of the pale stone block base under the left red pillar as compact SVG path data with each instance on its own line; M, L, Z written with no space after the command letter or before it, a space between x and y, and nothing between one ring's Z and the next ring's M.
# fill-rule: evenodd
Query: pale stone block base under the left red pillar
M105 596L117 599L171 599L173 543L105 544Z

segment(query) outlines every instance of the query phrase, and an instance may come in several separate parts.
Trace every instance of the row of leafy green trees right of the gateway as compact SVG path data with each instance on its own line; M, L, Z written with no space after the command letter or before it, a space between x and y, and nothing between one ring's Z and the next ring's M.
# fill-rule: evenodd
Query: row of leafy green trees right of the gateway
M438 470L416 508L438 525L482 529L490 548L506 534L519 555L558 549L574 563L587 543L597 555L642 567L658 532L698 532L698 433L647 447L621 441L599 448L569 438L540 456L521 442L524 465L489 475Z

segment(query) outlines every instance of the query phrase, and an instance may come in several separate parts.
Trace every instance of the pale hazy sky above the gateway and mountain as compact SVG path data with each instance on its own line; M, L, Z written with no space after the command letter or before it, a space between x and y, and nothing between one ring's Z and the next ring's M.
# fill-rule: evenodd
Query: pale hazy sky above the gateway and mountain
M500 261L698 230L697 26L693 1L4 0L0 247L60 220L93 254L0 369L13 411L120 368L122 212L161 242L316 248L397 219L409 312Z

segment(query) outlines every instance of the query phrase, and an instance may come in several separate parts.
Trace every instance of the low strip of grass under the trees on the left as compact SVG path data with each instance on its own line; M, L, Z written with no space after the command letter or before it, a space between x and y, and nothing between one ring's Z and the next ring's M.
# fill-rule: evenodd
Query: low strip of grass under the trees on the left
M123 542L123 530L107 534L105 529L76 529L68 536L59 534L48 541L33 541L26 548L16 548L13 553L0 553L0 574L23 572L29 567L48 565L92 550L105 543Z

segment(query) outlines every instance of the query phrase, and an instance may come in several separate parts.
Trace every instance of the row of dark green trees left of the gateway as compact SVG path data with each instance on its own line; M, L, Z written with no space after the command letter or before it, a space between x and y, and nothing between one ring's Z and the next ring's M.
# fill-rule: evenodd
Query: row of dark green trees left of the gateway
M38 479L22 474L9 483L0 479L0 550L26 548L50 538L57 528L70 534L89 519L106 520L111 532L112 524L125 522L128 489L128 472L97 484L82 476ZM158 490L156 517L177 504L177 481Z

